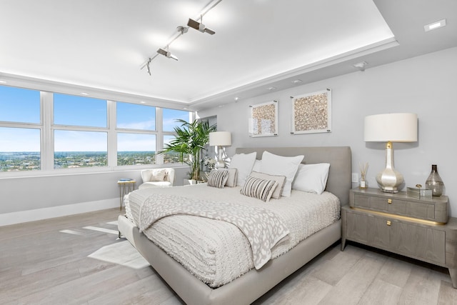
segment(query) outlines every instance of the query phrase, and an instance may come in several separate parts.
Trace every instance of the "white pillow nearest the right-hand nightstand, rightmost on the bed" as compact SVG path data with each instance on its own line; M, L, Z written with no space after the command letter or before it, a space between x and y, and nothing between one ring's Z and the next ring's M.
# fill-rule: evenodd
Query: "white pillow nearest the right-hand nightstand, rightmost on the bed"
M328 169L330 169L328 163L300 164L292 183L292 189L322 194L327 185Z

